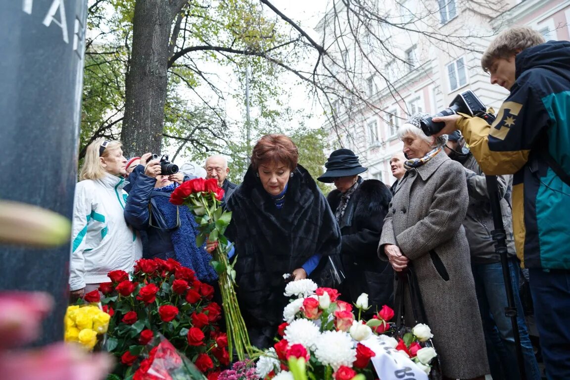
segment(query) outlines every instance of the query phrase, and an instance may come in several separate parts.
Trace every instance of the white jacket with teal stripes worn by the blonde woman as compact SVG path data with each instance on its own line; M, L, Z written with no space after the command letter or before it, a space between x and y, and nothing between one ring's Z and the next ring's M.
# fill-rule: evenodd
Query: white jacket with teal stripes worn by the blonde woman
M131 272L143 245L123 216L128 182L105 174L75 186L70 260L70 290L108 282L107 273Z

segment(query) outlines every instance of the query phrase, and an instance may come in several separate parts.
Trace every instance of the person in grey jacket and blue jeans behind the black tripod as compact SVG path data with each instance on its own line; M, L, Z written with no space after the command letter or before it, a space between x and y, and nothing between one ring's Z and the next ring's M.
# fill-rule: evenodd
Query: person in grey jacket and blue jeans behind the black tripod
M465 145L461 133L456 130L448 137L447 144L444 146L445 153L451 160L463 165L467 177L469 207L463 221L463 227L465 227L471 252L471 269L473 270L479 312L481 312L483 322L491 376L494 379L510 379L513 372L516 374L516 371L512 370L517 367L516 347L511 320L504 313L504 308L507 306L507 294L500 257L495 252L495 243L491 238L494 225L485 175ZM507 232L508 265L511 272L512 291L518 309L520 344L523 349L526 375L527 379L539 380L540 370L528 337L523 307L519 297L519 264L516 259L512 235L510 206L512 177L511 175L499 175L497 179L500 195L502 195L500 207L504 228ZM518 374L516 375L518 376Z

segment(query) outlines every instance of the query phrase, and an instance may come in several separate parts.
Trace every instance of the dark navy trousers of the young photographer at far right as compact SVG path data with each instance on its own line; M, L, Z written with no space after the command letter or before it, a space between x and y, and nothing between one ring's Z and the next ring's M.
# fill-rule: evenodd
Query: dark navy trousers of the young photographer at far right
M530 268L529 274L546 376L570 379L570 271Z

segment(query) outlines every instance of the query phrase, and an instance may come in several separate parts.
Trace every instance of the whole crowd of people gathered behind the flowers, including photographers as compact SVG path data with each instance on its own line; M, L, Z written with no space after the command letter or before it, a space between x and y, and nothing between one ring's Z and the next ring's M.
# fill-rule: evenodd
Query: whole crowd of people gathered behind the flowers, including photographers
M311 278L351 303L367 293L371 314L401 303L407 325L427 322L445 379L519 379L505 313L510 287L524 373L539 380L518 290L523 263L547 378L568 379L568 58L570 43L545 43L530 28L500 34L482 60L491 82L511 91L494 124L440 117L434 121L445 128L427 136L420 121L429 115L411 115L398 129L404 148L390 159L392 187L364 179L367 168L355 153L338 149L317 178L336 187L325 197L283 134L260 138L239 186L227 179L222 156L209 157L203 169L185 164L186 173L164 175L150 153L127 160L120 142L96 140L75 193L71 295L97 289L109 271L129 271L141 257L176 259L215 283L209 261L217 243L197 246L192 213L169 203L180 183L201 175L217 179L222 205L232 211L226 236L235 247L230 256L238 257L238 301L255 346L273 343L287 303L285 281ZM508 287L492 240L486 174L498 175Z

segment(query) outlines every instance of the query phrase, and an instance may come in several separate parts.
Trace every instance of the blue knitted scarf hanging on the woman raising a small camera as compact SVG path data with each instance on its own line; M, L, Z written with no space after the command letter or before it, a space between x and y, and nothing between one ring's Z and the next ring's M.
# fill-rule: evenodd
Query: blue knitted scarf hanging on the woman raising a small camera
M170 203L169 197L154 197L153 199L158 210L164 216L166 226L176 226L177 206ZM211 283L217 280L218 274L210 264L212 257L206 252L206 244L202 244L201 247L196 246L196 236L198 236L199 231L198 223L194 220L194 214L186 206L178 206L178 213L180 215L180 227L172 231L171 234L176 260L184 267L196 272L196 277L200 281Z

